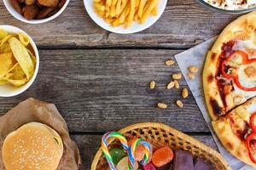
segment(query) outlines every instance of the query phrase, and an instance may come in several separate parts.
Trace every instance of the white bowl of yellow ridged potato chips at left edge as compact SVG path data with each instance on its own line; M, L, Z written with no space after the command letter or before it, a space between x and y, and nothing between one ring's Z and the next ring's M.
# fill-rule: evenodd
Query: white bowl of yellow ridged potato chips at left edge
M26 91L38 69L38 48L32 38L15 26L0 26L0 97Z

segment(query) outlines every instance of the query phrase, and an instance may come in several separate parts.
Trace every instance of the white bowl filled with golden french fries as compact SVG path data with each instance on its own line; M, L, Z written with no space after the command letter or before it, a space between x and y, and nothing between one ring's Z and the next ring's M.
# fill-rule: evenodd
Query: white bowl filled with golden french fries
M90 18L105 30L131 34L160 19L167 0L84 0Z

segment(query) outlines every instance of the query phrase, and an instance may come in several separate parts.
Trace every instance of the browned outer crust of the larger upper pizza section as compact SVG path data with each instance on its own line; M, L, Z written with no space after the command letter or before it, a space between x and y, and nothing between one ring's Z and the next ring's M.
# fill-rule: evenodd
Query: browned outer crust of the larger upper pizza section
M229 105L224 108L224 102L219 94L216 83L216 74L218 73L219 55L222 53L222 46L225 42L232 39L247 40L256 37L256 11L246 14L230 23L219 35L212 49L207 54L207 59L203 71L203 88L206 98L207 109L212 120L217 120L218 116L224 115L227 111L236 105L229 96L227 102ZM252 39L252 40L253 40Z

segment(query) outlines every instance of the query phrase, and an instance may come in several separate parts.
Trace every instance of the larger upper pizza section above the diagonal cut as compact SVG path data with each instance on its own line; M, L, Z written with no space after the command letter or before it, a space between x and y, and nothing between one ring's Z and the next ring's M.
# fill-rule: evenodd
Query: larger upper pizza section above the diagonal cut
M207 54L203 86L212 120L256 96L256 12L220 34Z

